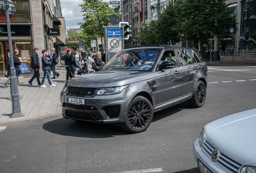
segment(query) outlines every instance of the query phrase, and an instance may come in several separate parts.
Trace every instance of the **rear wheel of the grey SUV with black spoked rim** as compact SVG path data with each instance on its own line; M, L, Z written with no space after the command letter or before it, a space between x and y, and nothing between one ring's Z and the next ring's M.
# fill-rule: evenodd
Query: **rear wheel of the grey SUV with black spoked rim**
M191 107L202 107L206 99L206 87L204 82L199 80L193 92L193 97L188 100L188 105Z

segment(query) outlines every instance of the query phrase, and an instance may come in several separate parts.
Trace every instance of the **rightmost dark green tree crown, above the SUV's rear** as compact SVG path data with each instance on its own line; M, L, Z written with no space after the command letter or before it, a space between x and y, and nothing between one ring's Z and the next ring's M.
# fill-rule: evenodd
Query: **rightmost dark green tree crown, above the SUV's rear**
M174 30L193 44L207 44L211 32L220 35L224 28L236 24L233 10L223 0L177 0L173 9L177 21Z

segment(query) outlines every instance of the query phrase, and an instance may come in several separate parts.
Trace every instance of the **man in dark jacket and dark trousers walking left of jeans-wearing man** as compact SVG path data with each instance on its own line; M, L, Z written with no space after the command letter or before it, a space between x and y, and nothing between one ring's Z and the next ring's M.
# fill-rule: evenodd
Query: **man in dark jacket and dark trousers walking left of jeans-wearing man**
M39 53L39 48L34 48L34 53L31 55L31 64L30 64L30 68L34 70L34 75L29 80L29 84L33 86L32 82L35 78L37 78L37 84L40 87L41 86L40 73L39 73L40 62L38 58L38 53Z

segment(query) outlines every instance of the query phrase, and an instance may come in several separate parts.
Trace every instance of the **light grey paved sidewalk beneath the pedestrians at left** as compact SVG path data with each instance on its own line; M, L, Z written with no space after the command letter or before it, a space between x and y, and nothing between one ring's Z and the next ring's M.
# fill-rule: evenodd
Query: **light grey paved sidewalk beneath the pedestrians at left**
M23 76L21 74L19 76L19 82L22 83L19 84L19 95L22 97L20 100L21 112L25 116L17 118L9 117L10 113L12 113L12 102L11 99L8 100L10 98L10 83L7 84L7 88L4 88L2 84L6 82L7 78L1 76L0 124L60 115L60 92L66 82L66 68L64 65L60 65L56 71L60 73L60 76L56 79L51 79L52 83L57 85L56 87L50 87L47 78L44 83L47 88L37 86L36 78L32 83L34 86L30 86L28 81L31 79L31 75ZM40 76L40 81L42 78L43 76Z

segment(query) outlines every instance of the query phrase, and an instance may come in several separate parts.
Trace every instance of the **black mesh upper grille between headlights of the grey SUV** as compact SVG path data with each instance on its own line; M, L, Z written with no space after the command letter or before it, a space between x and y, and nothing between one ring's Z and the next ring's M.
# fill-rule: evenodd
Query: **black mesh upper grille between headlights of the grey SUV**
M86 97L93 96L97 88L68 87L66 95Z

